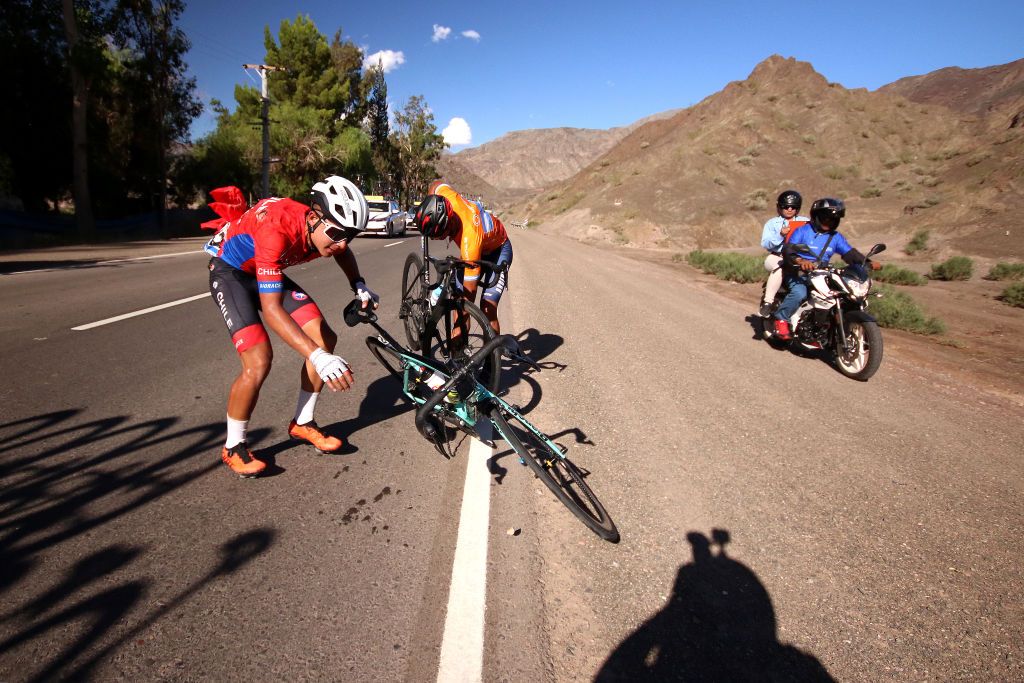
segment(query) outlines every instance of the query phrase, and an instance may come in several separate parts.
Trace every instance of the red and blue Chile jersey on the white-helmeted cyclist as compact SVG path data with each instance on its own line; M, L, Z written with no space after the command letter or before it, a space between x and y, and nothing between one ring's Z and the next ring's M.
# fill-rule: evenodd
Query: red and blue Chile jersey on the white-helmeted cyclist
M285 268L319 258L319 252L306 248L308 211L309 207L290 199L260 200L227 225L214 255L256 275L259 292L281 292Z

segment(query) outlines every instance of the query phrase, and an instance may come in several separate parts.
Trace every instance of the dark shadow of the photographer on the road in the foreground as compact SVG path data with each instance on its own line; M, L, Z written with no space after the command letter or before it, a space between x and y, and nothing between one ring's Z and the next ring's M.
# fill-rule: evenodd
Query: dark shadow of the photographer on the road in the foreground
M686 535L693 561L672 598L608 656L595 681L834 681L811 654L778 642L771 597L725 553L729 532ZM717 548L717 552L713 552Z

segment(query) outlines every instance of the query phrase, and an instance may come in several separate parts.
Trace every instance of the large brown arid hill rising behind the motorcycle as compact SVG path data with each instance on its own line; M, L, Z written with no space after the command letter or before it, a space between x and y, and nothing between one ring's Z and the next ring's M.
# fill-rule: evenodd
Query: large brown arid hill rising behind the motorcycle
M993 104L968 114L953 109L959 98L929 94L944 87L929 77L850 90L809 63L772 56L746 80L635 128L537 194L521 217L596 242L746 247L757 244L777 193L796 187L808 202L845 199L844 227L854 237L899 247L928 228L939 246L1022 257L1024 125L1007 115L1019 101L1015 63L993 68L1004 70L999 78L959 70L970 99ZM894 92L900 88L908 96Z

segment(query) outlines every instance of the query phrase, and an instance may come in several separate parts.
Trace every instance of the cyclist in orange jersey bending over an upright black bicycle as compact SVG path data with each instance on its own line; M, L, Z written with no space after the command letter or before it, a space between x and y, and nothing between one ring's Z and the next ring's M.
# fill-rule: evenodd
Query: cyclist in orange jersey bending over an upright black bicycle
M501 219L479 202L467 200L451 185L436 180L429 194L416 209L413 219L423 234L431 240L447 238L459 244L459 257L465 261L490 261L512 265L512 242ZM498 301L508 287L508 268L498 278L480 282L480 268L466 268L460 275L463 294L476 301L476 291L483 289L480 309L490 321L490 327L501 334L498 322Z

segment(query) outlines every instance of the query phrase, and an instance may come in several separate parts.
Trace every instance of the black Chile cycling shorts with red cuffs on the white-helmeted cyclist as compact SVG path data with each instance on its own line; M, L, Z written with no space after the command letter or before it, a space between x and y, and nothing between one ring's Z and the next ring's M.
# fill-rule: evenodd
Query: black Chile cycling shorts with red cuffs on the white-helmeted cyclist
M288 275L283 275L282 281L282 305L300 328L309 321L324 317L305 290ZM239 270L215 256L210 259L210 294L239 353L269 340L259 316L262 306L256 290L256 275Z

